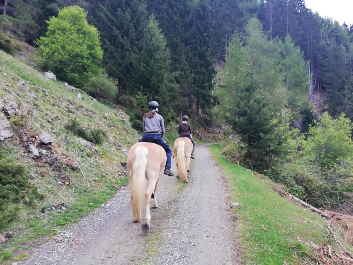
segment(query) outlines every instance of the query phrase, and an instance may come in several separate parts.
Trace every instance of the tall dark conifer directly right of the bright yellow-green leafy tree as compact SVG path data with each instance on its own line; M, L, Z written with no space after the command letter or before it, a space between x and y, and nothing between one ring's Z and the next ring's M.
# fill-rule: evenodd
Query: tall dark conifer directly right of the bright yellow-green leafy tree
M127 89L132 48L143 36L146 18L141 0L107 0L92 7L92 23L101 32L103 66L118 79L119 96Z

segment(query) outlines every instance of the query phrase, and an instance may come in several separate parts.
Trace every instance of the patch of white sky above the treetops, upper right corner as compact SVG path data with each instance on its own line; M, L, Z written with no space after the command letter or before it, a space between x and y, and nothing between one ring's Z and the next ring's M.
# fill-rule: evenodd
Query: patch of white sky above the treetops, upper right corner
M353 0L305 0L306 7L320 16L337 20L340 24L353 24Z

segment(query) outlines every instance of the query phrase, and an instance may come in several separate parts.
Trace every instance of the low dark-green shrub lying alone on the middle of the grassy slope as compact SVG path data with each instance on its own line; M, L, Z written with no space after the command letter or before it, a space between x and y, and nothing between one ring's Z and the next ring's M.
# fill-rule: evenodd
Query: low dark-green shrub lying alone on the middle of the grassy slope
M103 144L104 140L107 138L104 131L85 126L76 119L71 120L71 122L66 125L66 129L94 144Z

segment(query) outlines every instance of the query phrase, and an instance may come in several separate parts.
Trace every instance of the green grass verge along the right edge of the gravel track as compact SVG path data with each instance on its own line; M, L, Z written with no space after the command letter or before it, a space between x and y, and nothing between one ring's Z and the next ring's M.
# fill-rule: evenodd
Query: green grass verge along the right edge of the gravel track
M254 172L229 162L219 145L211 145L209 150L227 176L232 200L240 201L234 215L245 262L303 264L312 260L313 253L305 243L323 245L325 221L283 199L270 180L258 179Z

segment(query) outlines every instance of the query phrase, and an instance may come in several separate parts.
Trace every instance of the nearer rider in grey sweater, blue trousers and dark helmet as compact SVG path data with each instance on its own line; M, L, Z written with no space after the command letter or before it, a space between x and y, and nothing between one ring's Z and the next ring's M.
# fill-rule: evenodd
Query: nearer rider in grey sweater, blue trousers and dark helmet
M143 115L143 137L139 139L139 142L155 143L163 147L167 153L167 163L164 169L164 174L168 176L174 176L170 170L172 166L172 149L169 144L163 139L164 135L164 120L161 115L158 114L159 104L156 101L151 101L148 104L149 112Z

